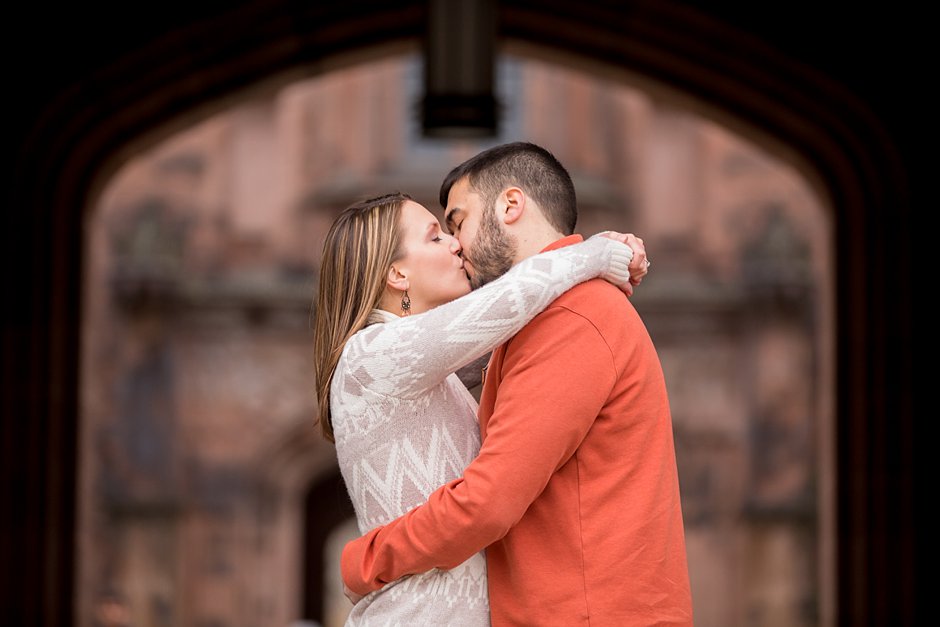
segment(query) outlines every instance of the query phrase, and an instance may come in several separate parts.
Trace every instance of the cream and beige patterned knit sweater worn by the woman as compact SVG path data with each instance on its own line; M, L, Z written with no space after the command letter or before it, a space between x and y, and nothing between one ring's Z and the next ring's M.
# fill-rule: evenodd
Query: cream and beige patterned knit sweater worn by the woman
M631 257L624 244L593 237L530 257L431 311L373 312L374 324L344 347L330 389L337 457L361 533L424 503L479 452L477 404L454 371L578 283L625 283ZM489 625L483 553L386 585L357 603L346 624Z

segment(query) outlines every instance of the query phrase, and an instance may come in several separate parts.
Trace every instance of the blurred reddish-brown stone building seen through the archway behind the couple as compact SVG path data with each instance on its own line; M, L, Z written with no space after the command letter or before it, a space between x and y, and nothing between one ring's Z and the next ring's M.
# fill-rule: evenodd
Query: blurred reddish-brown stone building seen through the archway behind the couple
M662 357L697 624L815 625L832 604L831 233L797 171L631 85L497 64L486 140L425 139L422 60L248 99L129 159L87 221L79 624L342 624L357 534L314 425L312 295L345 206L530 140L578 229L640 234L634 302ZM829 595L827 598L826 595ZM108 614L110 612L111 614Z

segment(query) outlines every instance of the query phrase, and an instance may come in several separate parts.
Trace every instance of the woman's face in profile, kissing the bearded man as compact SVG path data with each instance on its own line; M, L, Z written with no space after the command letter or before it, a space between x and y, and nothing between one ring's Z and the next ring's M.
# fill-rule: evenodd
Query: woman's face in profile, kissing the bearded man
M408 281L411 312L421 313L470 293L460 243L430 211L408 200L401 209L405 256L393 266Z

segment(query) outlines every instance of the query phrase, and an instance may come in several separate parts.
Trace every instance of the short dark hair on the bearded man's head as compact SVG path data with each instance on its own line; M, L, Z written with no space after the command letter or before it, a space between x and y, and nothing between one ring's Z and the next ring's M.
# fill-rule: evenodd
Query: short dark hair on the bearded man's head
M541 146L529 142L502 144L464 161L441 184L442 207L447 207L450 188L464 177L487 209L493 207L504 189L518 186L538 203L549 224L564 235L574 233L578 221L574 183L558 159Z

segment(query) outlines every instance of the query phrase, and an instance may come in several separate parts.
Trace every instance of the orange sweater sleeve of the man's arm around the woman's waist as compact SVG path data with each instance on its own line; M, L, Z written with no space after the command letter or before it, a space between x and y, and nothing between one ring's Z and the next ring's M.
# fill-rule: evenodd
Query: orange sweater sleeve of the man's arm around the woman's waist
M510 340L500 374L486 438L464 476L346 545L341 568L351 590L453 568L505 536L577 450L616 378L598 330L560 306Z

